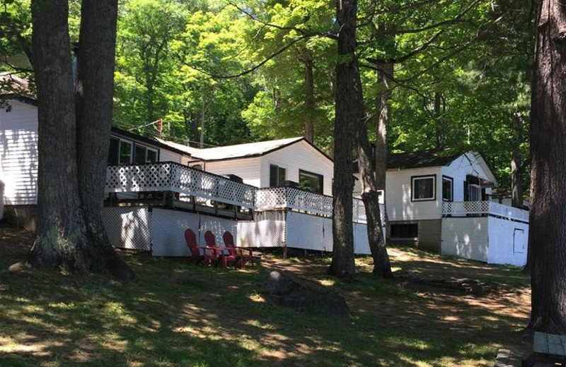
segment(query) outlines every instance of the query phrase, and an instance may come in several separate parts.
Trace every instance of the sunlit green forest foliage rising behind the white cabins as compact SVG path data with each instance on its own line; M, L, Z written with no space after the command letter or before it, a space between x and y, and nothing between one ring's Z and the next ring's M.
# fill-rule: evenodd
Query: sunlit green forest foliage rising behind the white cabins
M69 2L78 40L80 1ZM531 6L525 1L359 2L362 83L373 134L379 62L395 61L389 145L441 145L482 152L503 186L511 152L528 162ZM2 1L0 71L33 80L30 1ZM122 0L118 21L115 124L148 136L226 145L301 136L330 152L337 62L332 1ZM313 107L306 104L306 65ZM27 73L26 73L27 71ZM229 76L238 78L226 78ZM441 108L434 108L437 96ZM202 129L204 126L204 130ZM194 143L192 143L194 145Z

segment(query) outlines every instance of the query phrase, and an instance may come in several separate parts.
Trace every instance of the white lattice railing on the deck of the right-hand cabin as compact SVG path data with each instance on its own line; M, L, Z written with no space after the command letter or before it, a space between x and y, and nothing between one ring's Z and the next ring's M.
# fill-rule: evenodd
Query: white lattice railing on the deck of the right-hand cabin
M442 215L495 215L510 220L529 223L529 212L493 201L446 201L442 203Z

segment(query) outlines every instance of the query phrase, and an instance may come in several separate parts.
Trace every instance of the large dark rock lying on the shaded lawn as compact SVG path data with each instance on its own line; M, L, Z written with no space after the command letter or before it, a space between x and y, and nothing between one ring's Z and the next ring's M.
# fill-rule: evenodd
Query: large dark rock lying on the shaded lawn
M282 306L318 308L328 315L350 316L344 297L337 291L288 272L270 272L261 292L267 300Z

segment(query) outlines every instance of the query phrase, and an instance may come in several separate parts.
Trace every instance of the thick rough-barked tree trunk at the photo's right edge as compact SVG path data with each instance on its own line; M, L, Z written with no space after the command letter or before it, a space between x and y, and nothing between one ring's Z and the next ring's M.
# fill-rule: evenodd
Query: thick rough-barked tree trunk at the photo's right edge
M538 1L531 100L534 330L566 335L566 9Z

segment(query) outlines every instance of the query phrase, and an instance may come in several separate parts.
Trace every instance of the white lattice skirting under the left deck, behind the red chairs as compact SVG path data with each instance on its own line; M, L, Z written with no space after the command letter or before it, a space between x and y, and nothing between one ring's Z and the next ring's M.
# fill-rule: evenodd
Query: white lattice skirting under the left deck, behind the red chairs
M105 207L104 222L112 246L151 251L154 256L188 256L185 229L190 228L204 246L204 232L216 236L216 244L224 246L222 234L231 231L237 236L235 220L209 215L146 207Z

